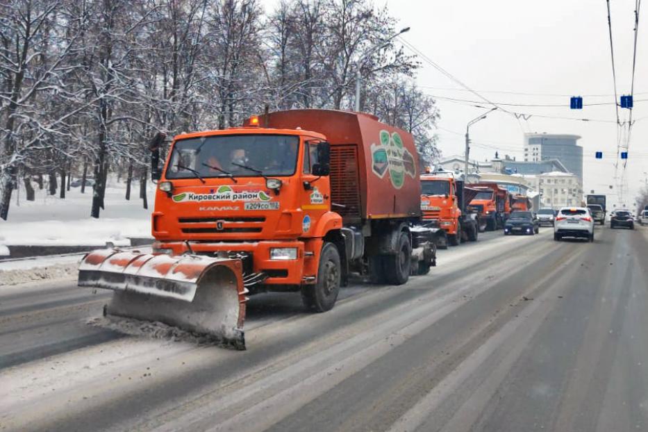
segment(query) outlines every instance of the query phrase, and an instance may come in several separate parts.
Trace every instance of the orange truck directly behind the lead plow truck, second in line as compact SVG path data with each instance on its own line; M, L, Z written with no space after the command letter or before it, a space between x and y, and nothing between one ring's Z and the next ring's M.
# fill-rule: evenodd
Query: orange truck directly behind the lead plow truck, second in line
M424 222L443 229L447 235L447 244L451 246L467 240L476 241L479 233L477 215L468 209L468 203L478 193L479 190L465 186L463 174L443 169L421 174L421 210Z

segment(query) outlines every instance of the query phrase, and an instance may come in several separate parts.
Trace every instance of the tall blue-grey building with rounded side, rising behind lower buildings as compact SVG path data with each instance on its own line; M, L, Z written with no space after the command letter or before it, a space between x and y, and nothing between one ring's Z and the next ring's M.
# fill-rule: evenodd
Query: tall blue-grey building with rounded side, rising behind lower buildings
M573 172L583 182L583 147L576 145L579 135L550 133L524 134L524 160L542 162L558 159L567 171Z

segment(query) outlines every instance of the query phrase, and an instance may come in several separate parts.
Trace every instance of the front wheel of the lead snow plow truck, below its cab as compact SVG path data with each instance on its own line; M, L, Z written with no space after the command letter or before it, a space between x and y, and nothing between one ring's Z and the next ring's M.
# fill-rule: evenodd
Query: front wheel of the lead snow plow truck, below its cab
M338 248L325 242L319 255L317 282L301 288L301 301L308 310L326 312L333 308L340 292L341 269Z

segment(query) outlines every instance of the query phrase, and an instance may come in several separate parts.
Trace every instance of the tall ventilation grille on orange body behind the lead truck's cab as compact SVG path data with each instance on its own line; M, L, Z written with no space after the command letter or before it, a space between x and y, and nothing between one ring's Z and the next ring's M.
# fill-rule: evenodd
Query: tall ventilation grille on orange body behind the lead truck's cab
M360 219L358 147L331 146L331 210L344 219Z

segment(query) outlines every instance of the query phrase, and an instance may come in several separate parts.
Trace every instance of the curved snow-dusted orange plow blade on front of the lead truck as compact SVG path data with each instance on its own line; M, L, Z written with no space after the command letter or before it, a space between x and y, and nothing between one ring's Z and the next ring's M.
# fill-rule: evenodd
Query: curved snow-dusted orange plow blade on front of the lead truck
M115 290L108 315L159 321L245 349L247 291L238 259L100 249L81 261L78 285Z

